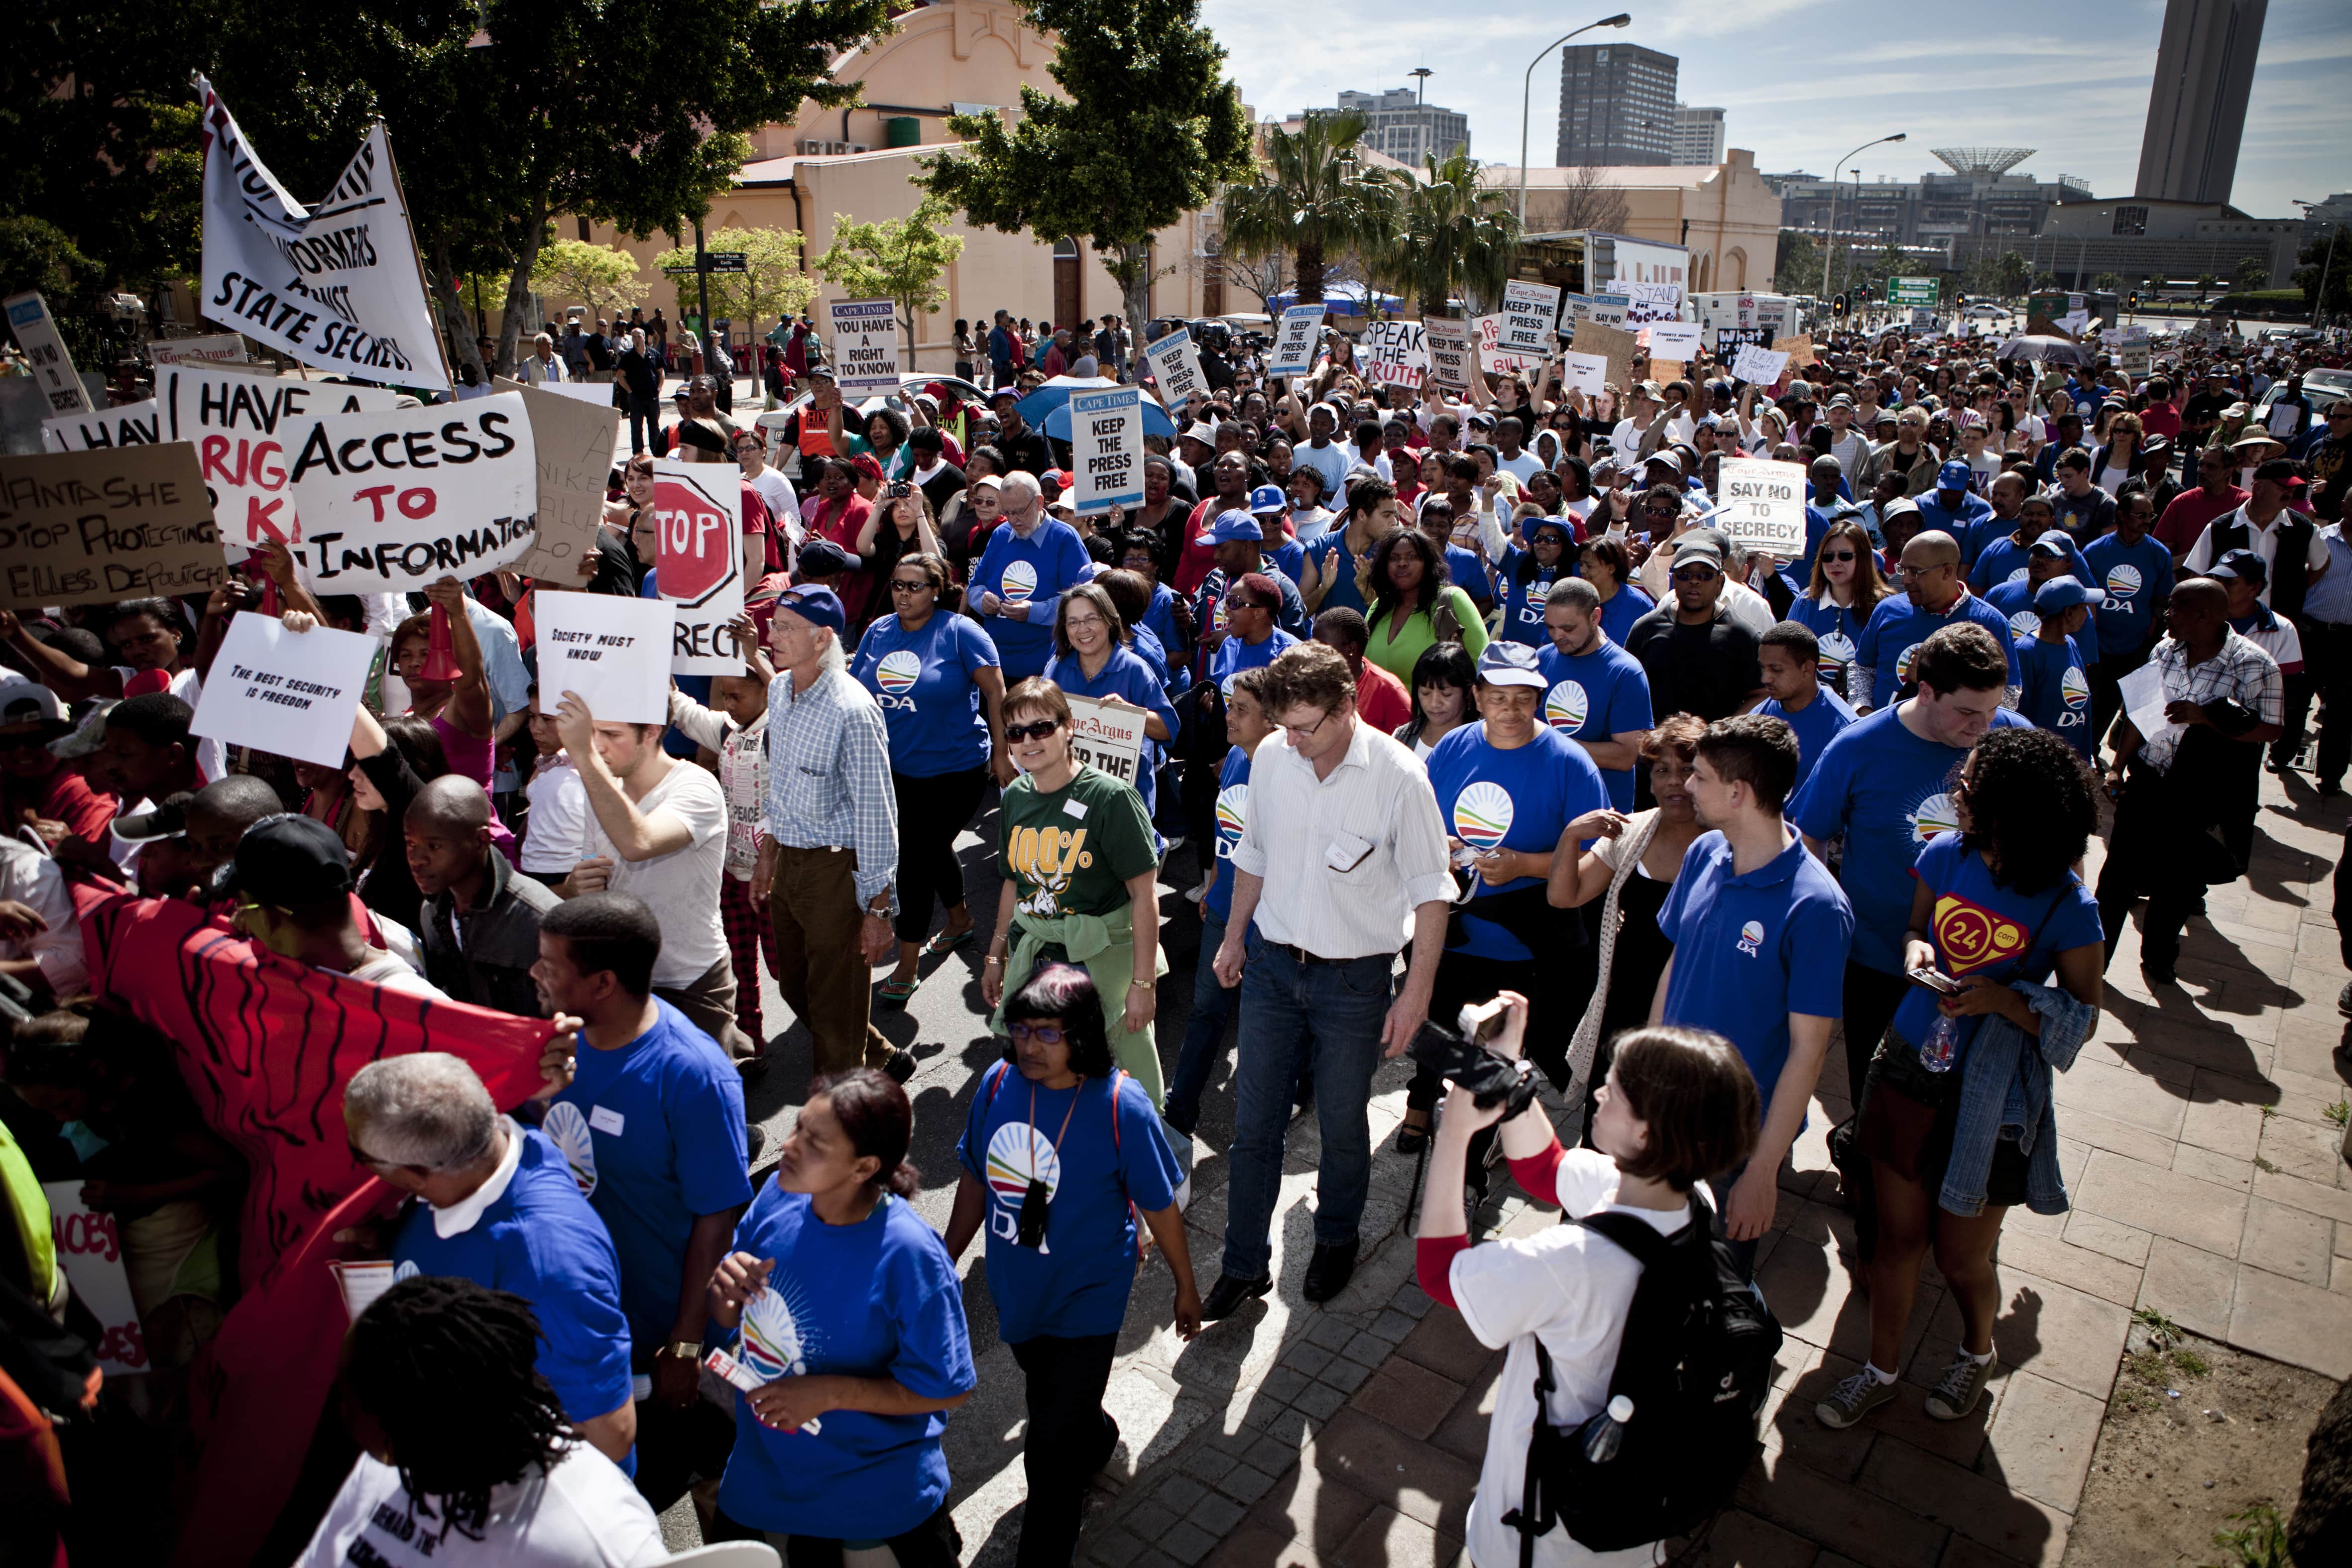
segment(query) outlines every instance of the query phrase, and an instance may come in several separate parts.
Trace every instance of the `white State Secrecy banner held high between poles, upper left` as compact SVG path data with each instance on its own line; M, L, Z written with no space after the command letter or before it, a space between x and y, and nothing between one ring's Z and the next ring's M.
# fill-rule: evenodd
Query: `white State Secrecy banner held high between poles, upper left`
M379 120L318 207L303 207L205 94L205 287L198 310L256 343L369 381L449 390L393 146Z

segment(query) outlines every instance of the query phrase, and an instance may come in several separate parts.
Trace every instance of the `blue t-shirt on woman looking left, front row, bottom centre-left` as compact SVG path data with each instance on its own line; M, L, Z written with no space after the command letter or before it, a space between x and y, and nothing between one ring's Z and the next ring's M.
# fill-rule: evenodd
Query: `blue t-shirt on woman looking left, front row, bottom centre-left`
M757 1378L896 1378L922 1399L978 1382L955 1262L906 1201L884 1197L856 1225L826 1225L804 1192L767 1182L736 1225L734 1251L776 1265L743 1307L736 1359ZM948 1497L946 1429L943 1410L826 1410L816 1434L776 1432L736 1394L720 1507L788 1535L906 1535Z

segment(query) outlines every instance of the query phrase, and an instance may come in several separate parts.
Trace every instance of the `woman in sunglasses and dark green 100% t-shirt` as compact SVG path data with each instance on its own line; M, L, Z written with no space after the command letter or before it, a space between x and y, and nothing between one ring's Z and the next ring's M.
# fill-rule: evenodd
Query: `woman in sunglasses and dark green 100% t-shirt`
M1110 1056L1160 1105L1160 839L1143 797L1070 752L1070 698L1049 679L1004 693L1004 745L1021 778L997 802L997 936L981 964L988 1027L1042 964L1094 973ZM1122 954L1131 966L1122 971Z

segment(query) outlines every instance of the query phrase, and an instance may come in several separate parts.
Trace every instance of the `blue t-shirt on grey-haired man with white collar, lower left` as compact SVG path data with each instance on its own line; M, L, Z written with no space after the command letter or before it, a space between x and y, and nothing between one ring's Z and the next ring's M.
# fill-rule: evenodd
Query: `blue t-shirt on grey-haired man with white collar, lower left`
M506 1192L454 1237L433 1227L430 1204L409 1204L393 1237L393 1272L470 1279L532 1302L543 1335L539 1371L555 1385L564 1415L574 1422L609 1415L630 1399L621 1260L562 1152L515 1121L506 1135L522 1143ZM677 1309L677 1269L670 1309Z

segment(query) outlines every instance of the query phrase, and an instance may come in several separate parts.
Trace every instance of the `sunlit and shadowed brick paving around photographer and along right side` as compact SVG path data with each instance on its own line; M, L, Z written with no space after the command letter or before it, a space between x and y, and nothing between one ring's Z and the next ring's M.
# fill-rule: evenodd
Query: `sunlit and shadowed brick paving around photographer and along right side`
M1933 1422L1919 1406L1959 1333L1933 1265L1905 1335L1903 1399L1849 1432L1813 1420L1813 1401L1858 1366L1867 1340L1867 1307L1846 1262L1853 1220L1823 1147L1849 1095L1832 1046L1757 1265L1788 1331L1764 1455L1689 1561L2058 1563L2138 1307L2241 1349L2352 1375L2352 1171L2343 1128L2326 1117L2352 1070L2336 1013L2347 973L2328 914L2343 830L2345 802L2321 806L2300 776L2265 778L2253 870L2213 889L2209 917L2190 926L2180 985L2150 994L2138 936L2124 938L2098 1034L2058 1079L2060 1166L2074 1208L2058 1218L2011 1211L1994 1328L2002 1371L1969 1420ZM2093 846L2093 879L2098 860ZM1402 1112L1402 1077L1385 1070L1376 1093L1376 1135L1385 1135ZM1164 1422L1141 1467L1122 1453L1087 1523L1087 1563L1465 1561L1463 1523L1503 1356L1411 1284L1411 1239L1397 1229L1409 1161L1388 1152L1376 1161L1355 1284L1327 1307L1301 1302L1312 1190L1305 1131L1301 1143L1294 1128L1287 1164L1277 1298L1181 1354L1152 1363L1145 1345L1122 1361L1120 1380L1152 1373L1171 1408L1197 1415ZM1486 1234L1526 1234L1552 1218L1505 1182ZM1216 1276L1221 1227L1221 1204L1190 1215L1202 1284ZM1148 1291L1157 1305L1160 1286ZM1138 1441L1131 1425L1129 1441ZM997 1519L988 1547L1009 1544L1007 1523ZM976 1561L997 1556L983 1549Z

